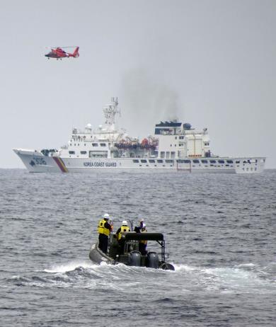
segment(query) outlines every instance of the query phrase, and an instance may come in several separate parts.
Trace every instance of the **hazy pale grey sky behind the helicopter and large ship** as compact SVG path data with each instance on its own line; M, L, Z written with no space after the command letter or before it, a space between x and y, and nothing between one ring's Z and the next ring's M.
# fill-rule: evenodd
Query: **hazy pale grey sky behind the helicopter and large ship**
M1 1L1 168L58 148L118 96L131 136L178 117L276 168L276 1ZM79 45L78 59L44 57Z

